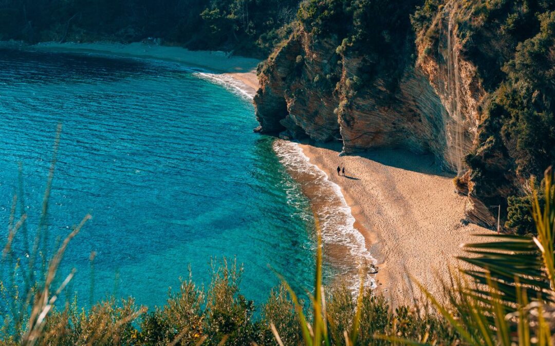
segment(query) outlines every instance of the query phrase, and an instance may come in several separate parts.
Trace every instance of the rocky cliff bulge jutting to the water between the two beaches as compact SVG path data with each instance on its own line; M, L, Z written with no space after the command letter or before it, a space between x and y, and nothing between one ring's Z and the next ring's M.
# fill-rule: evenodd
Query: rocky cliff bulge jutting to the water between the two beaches
M323 142L340 138L332 79L340 71L336 47L336 42L314 43L301 31L270 56L254 100L257 131Z

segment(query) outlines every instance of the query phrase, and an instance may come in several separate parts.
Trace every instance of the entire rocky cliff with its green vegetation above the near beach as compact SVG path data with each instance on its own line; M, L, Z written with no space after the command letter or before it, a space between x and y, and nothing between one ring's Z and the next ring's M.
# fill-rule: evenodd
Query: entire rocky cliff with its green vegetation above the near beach
M549 159L523 152L518 128L510 127L516 117L510 102L499 110L496 100L513 87L507 66L518 58L519 42L537 34L538 20L549 21L532 10L549 8L456 0L427 0L420 7L323 3L301 6L295 32L261 66L258 131L341 141L346 154L381 147L431 152L457 174L456 188L468 196L468 219L493 226L492 204L502 206L504 219L507 198L526 194L527 179ZM334 26L338 17L354 24ZM518 32L519 25L528 33ZM522 126L531 126L531 119Z

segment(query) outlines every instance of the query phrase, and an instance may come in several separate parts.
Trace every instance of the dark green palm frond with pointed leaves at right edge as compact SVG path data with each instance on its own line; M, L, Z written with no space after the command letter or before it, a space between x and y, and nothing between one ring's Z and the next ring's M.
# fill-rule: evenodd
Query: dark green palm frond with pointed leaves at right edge
M492 304L501 301L510 312L514 312L518 305L518 295L525 295L521 300L526 301L539 299L543 302L555 302L555 194L551 168L545 172L543 186L543 209L536 190L533 192L532 200L531 213L536 223L537 237L478 235L487 237L490 241L463 245L468 254L473 256L457 258L475 267L462 272L475 281L477 285L476 288L472 288L471 293L482 297L483 302ZM494 293L483 288L490 286L488 280L495 286L495 295L498 295L499 299L492 298ZM526 289L516 290L517 282Z

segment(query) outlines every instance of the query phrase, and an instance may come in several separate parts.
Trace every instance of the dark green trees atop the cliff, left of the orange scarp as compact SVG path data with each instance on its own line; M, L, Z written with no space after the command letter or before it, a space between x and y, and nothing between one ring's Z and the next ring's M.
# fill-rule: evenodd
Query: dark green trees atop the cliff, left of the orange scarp
M394 89L414 52L409 15L419 3L311 0L301 3L297 19L313 39L331 38L340 43L338 54L362 59L351 89L370 86L378 77Z

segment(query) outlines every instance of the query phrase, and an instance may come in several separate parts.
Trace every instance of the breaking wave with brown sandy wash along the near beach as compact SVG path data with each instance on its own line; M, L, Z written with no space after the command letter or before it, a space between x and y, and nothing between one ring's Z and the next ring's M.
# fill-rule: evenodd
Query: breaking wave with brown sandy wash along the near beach
M332 265L346 276L352 291L357 292L360 286L361 268L364 272L364 285L376 287L370 268L377 262L366 249L365 237L355 228L355 218L340 186L332 182L315 164L310 163L298 143L276 140L274 151L311 200L320 221L324 247L331 249L327 257L333 262Z

